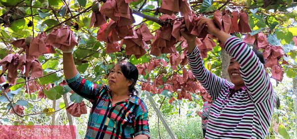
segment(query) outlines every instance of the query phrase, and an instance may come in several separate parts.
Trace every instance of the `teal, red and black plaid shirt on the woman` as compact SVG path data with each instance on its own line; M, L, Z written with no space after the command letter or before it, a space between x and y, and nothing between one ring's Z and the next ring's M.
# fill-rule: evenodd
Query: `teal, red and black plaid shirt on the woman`
M77 74L66 80L69 87L93 103L85 139L133 139L137 135L150 138L148 108L137 96L111 103L110 89Z

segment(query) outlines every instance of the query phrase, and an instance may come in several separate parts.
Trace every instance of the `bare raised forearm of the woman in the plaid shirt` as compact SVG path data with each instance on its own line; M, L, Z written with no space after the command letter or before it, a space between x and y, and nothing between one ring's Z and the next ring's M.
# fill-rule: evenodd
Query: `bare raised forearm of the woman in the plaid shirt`
M71 79L77 75L72 53L63 53L63 71L65 79Z

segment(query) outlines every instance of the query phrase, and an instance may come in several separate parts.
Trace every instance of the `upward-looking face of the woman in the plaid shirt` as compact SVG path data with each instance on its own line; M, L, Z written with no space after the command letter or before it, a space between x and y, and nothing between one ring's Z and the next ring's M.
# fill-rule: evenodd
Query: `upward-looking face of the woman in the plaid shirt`
M110 90L115 93L128 91L131 84L132 82L124 76L119 64L116 64L108 75Z

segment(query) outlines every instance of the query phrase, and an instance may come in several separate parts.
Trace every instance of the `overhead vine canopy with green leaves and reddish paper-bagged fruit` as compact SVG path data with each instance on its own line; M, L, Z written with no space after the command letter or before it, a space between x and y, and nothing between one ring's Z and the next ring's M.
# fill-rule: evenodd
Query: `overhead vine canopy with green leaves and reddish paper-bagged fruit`
M186 24L188 33L198 36L207 69L222 76L228 62L222 61L222 44L195 26L200 16L263 51L272 78L296 77L292 0L0 0L0 81L11 86L0 96L0 107L15 103L23 116L28 101L13 99L24 95L20 92L38 93L37 100L70 92L60 49L73 46L77 69L90 81L106 84L112 65L126 57L139 69L139 89L164 94L171 103L191 101L193 93L210 99L189 70L187 43L179 33ZM73 93L71 100L82 98Z

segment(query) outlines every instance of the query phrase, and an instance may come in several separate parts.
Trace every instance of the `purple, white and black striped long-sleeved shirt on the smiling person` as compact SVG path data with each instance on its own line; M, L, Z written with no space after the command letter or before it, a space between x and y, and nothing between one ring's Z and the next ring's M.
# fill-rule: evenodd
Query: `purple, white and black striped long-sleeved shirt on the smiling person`
M268 134L275 94L264 65L246 43L230 37L224 47L240 64L246 87L233 91L234 84L203 66L198 47L188 53L191 70L213 99L205 139L264 139Z

